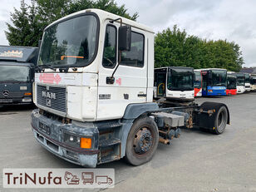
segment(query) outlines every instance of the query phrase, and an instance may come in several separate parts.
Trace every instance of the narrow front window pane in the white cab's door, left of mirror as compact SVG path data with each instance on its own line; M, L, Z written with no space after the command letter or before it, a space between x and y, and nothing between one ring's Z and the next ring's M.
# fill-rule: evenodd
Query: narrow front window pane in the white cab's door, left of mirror
M116 66L116 27L112 25L106 26L102 65L106 68Z

